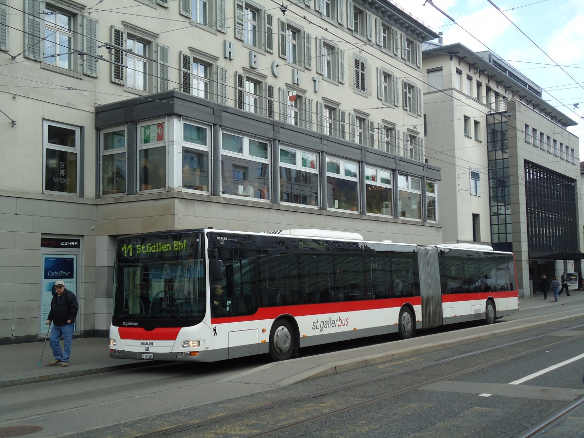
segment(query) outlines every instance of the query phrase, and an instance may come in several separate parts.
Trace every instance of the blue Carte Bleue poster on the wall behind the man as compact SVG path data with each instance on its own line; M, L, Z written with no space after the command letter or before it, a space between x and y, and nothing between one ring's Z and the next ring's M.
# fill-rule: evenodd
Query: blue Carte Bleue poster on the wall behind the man
M45 322L48 312L51 311L55 281L63 280L65 288L77 296L77 255L43 254L41 263L43 279L41 281L39 333L44 335L48 330L48 325ZM79 299L79 297L77 298Z

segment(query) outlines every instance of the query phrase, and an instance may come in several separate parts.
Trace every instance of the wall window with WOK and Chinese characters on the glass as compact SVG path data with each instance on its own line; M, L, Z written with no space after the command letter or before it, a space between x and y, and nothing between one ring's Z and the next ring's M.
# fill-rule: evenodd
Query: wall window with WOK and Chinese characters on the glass
M43 193L79 194L81 128L43 122Z

